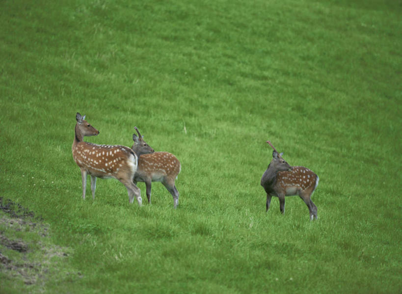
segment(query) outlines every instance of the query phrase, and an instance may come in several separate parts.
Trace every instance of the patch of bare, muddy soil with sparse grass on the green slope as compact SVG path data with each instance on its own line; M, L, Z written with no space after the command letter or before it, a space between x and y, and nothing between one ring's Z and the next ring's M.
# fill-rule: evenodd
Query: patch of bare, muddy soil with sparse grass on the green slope
M53 258L66 258L69 249L52 244L49 241L49 226L21 205L0 197L0 211L2 276L22 280L26 285L43 282Z

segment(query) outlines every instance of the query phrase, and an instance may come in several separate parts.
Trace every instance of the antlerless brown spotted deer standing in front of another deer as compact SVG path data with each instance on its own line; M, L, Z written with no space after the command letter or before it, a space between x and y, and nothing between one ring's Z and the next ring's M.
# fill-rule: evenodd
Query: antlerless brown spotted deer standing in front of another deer
M76 119L72 152L74 161L81 170L82 198L85 199L86 178L89 174L92 199L95 199L96 178L115 178L126 186L130 203L133 203L135 195L138 205L141 206L141 191L133 183L137 170L137 156L133 150L121 145L97 145L84 142L84 136L96 136L99 131L85 120L85 115L81 116L77 112Z

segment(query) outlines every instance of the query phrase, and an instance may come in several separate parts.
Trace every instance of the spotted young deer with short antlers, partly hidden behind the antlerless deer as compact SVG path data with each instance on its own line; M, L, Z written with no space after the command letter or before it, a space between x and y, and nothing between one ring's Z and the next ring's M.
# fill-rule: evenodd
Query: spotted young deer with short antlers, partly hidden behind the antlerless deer
M181 171L180 161L169 152L146 152L141 146L147 144L138 128L133 134L134 144L132 150L138 156L138 168L135 172L133 182L145 182L148 203L151 204L151 186L152 182L161 182L162 185L173 196L173 207L176 209L179 203L179 191L175 186L177 175Z

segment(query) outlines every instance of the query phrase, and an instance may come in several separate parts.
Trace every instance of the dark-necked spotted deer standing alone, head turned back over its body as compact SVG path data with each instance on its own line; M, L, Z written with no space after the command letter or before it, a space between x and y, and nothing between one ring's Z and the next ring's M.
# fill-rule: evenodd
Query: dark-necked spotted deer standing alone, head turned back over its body
M272 196L279 198L280 211L285 214L285 196L299 195L309 209L310 220L317 219L317 206L311 195L318 186L319 177L304 166L290 166L282 158L283 153L278 153L270 141L267 143L273 151L272 160L261 178L261 186L267 193L266 212Z

